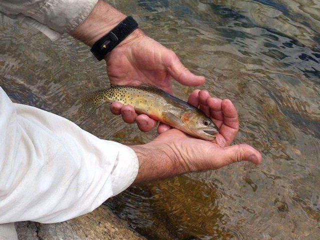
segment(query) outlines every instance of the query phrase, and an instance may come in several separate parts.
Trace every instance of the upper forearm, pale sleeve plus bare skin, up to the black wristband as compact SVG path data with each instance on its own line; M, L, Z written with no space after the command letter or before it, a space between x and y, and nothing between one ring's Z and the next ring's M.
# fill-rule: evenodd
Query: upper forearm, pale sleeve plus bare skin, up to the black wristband
M87 45L126 17L103 0L1 0L0 13L12 18L27 17L33 27L43 24L36 28L46 35L52 29L55 33L70 33Z

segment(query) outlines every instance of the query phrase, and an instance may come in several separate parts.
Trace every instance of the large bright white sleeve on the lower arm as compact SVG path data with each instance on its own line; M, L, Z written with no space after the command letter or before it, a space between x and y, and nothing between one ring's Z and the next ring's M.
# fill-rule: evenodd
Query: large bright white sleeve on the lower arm
M12 103L0 87L0 223L64 221L135 179L134 151L73 122Z

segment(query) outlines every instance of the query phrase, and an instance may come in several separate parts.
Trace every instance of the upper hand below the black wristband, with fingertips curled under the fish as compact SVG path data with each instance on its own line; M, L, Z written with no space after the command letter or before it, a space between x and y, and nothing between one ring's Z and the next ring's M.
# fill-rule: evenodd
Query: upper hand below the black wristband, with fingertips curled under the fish
M205 80L184 67L172 50L139 29L114 48L105 60L107 74L114 84L139 85L144 82L171 92L171 77L187 86L201 85ZM111 104L111 111L121 114L127 123L136 122L142 131L150 131L157 123L147 115L137 115L133 107L119 102Z

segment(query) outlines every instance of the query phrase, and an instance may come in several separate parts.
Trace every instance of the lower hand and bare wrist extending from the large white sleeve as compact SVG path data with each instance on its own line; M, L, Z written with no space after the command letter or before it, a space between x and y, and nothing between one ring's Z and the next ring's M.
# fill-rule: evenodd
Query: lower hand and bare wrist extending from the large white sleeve
M171 177L185 172L218 169L242 160L261 163L261 154L247 144L230 145L238 127L238 115L232 102L194 90L188 102L199 106L219 127L213 141L193 138L177 129L162 125L153 141L132 146L139 159L135 182Z

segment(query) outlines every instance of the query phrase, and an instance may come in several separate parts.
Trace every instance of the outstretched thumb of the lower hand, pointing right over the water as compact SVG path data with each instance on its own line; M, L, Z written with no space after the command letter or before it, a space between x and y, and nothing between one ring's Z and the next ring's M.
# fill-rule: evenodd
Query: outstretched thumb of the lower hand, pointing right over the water
M248 144L237 144L221 149L221 165L228 165L238 161L251 161L260 164L262 156L259 151Z

